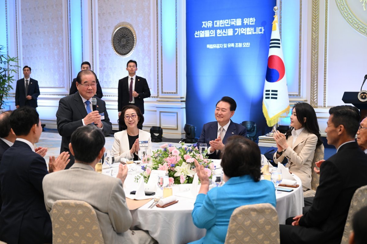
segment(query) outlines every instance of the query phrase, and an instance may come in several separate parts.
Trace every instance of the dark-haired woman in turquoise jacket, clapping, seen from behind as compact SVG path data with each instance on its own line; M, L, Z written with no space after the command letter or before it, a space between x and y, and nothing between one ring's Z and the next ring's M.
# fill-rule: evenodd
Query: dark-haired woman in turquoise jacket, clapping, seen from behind
M272 182L260 181L261 153L258 145L243 136L231 136L226 144L221 166L226 183L209 189L209 180L202 165L196 172L201 186L192 218L199 228L207 229L206 236L193 243L224 243L233 210L247 204L276 205Z

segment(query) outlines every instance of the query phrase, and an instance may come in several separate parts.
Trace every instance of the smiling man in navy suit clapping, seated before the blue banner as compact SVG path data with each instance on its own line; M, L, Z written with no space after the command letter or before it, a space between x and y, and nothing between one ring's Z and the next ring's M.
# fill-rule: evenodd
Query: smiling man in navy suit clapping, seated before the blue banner
M240 135L246 137L246 128L234 123L230 118L235 114L236 101L231 97L222 97L215 105L215 119L217 121L204 124L197 145L206 143L208 158L219 159L221 151L230 136Z

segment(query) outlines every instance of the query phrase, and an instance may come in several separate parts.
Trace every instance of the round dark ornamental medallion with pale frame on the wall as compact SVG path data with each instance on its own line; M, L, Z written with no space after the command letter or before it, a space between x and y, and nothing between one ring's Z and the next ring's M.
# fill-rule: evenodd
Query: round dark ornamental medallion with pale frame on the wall
M117 26L112 34L112 48L121 57L131 55L137 43L134 29L128 25Z

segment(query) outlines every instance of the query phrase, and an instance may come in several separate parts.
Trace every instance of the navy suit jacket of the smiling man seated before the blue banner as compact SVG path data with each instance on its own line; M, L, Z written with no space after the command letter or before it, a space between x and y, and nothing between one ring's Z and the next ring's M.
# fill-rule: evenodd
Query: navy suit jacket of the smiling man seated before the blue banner
M217 121L213 121L213 122L204 124L203 130L201 131L201 134L200 134L200 138L197 141L197 147L199 148L200 143L206 143L209 148L210 147L209 142L211 140L217 139L218 129L219 128L218 128ZM246 137L246 132L247 132L247 129L243 127L243 125L237 124L233 122L232 120L230 120L230 124L226 131L226 134L224 135L224 138L222 138L222 142L223 144L226 144L227 139L230 136L234 136L234 135L240 135L240 136ZM221 155L221 150L219 150L218 153L217 151L214 151L212 154L207 154L208 158L211 158L211 159L219 159L220 155Z

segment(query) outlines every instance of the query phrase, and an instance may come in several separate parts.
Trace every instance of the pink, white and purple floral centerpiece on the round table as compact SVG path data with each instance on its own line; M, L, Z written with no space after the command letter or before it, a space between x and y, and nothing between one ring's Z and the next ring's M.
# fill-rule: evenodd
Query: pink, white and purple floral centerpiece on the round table
M142 166L144 172L135 177L135 180L137 181L142 176L145 183L147 183L152 170L157 169L168 172L170 185L192 183L195 175L194 159L204 166L210 177L212 169L214 169L214 163L199 153L196 144L184 146L183 142L180 143L181 147L175 147L167 143L163 144L160 149L153 151L152 157L144 158L142 161L147 165Z

